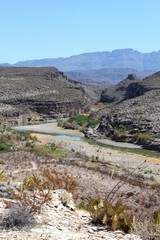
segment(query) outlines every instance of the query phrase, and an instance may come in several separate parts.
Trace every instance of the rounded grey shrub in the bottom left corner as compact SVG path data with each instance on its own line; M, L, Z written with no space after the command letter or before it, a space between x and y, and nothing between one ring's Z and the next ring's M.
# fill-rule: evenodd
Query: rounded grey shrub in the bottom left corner
M5 229L34 226L35 218L30 208L25 205L13 205L2 217L0 225Z

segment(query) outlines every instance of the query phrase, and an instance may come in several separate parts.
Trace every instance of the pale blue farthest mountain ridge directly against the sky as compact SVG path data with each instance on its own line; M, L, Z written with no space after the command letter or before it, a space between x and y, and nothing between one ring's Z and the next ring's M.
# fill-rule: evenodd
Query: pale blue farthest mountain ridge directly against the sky
M68 58L28 60L13 64L17 67L54 66L61 71L91 70L102 68L133 68L138 71L160 70L160 51L141 53L133 49L119 49L112 52L83 53Z

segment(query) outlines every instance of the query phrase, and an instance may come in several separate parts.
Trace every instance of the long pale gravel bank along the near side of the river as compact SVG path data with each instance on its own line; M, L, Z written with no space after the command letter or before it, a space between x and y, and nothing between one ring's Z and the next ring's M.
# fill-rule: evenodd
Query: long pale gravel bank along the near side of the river
M32 136L37 137L41 144L53 142L68 151L85 155L93 160L95 159L107 163L119 174L122 172L132 172L137 166L146 161L143 168L138 169L137 173L144 177L152 176L156 181L160 182L160 160L157 158L120 152L97 145L76 142L70 139L62 139L59 136L44 135L39 133L32 133Z

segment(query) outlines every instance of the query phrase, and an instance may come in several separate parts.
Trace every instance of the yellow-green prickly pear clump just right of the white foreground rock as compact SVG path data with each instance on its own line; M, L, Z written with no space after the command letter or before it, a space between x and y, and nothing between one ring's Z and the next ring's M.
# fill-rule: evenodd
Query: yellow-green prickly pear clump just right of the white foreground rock
M113 205L107 200L91 199L88 203L80 203L79 208L91 213L93 223L107 225L112 231L128 232L132 227L133 216L127 213L128 206L121 202Z

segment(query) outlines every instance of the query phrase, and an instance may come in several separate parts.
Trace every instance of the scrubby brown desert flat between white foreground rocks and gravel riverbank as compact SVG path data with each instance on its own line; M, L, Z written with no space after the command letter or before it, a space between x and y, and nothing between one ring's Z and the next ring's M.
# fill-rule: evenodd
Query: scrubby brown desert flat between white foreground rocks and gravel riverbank
M37 147L36 141L29 134L1 137L11 149L0 152L0 197L19 203L6 200L10 210L1 227L34 225L33 212L51 200L51 191L66 189L77 206L90 211L94 223L133 231L145 240L159 239L160 185L135 181L135 176L120 178L105 168L97 171L91 167L93 159L53 144Z

